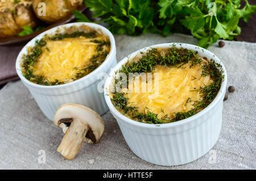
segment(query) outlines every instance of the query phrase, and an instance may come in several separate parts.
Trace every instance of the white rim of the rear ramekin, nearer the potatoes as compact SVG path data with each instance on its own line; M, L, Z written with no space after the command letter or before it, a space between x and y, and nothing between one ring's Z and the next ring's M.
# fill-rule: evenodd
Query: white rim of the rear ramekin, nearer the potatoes
M56 86L44 86L44 85L38 85L34 82L30 82L28 81L28 79L26 79L24 77L24 75L22 74L22 71L21 71L21 68L20 68L20 59L22 58L23 54L24 54L24 51L26 51L26 48L28 47L28 45L31 44L31 42L34 42L38 39L41 39L42 36L46 35L47 33L50 33L52 31L56 31L58 28L62 28L62 27L71 27L71 26L81 26L82 24L84 24L85 26L89 26L89 27L92 27L92 28L99 28L100 30L102 30L102 32L104 32L106 35L109 36L109 40L110 40L110 52L108 54L108 57L106 57L105 61L100 65L98 66L97 69L93 70L91 73L89 73L88 75L85 75L84 77L80 78L80 79L77 79L76 81L73 81L73 82L69 82L69 83L65 83L63 85L56 85ZM61 89L62 87L69 87L69 86L73 86L77 83L80 83L82 81L85 81L86 79L90 79L90 77L93 77L93 76L96 76L98 71L100 71L108 62L109 60L115 56L115 53L116 53L116 48L115 48L115 39L114 39L114 36L113 34L107 29L105 28L104 26L101 26L100 24L96 24L96 23L88 23L88 22L76 22L76 23L67 23L67 24L62 24L60 26L57 26L57 27L53 27L43 33L40 33L38 36L34 37L32 40L28 41L28 43L26 45L24 45L24 47L22 48L22 50L20 50L19 54L18 54L18 57L16 58L16 62L15 62L15 70L16 70L16 73L18 74L19 78L24 82L26 83L27 85L30 85L32 87L36 87L36 88L39 88L39 89Z

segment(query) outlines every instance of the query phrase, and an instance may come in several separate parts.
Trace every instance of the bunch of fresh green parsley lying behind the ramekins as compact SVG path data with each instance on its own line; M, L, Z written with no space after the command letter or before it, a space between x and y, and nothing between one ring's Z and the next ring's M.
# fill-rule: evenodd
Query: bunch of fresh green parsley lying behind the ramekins
M151 32L167 36L172 32L190 33L199 39L199 46L207 48L218 39L232 40L240 35L238 21L247 22L256 6L240 9L240 0L86 0L94 12L93 18L108 23L114 34L139 35ZM77 19L88 19L74 12Z

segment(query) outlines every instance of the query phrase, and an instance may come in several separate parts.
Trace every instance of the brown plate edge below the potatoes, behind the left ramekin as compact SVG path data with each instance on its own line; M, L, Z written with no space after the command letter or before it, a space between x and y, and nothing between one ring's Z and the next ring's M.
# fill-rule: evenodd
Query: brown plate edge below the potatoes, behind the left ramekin
M77 10L82 12L86 9L85 5L80 6ZM71 22L71 20L75 19L75 16L73 14L67 16L64 19L59 20L58 22L49 25L46 28L43 28L42 30L36 31L34 33L31 33L30 35L26 35L26 36L13 36L13 37L8 37L5 39L0 39L0 45L10 45L10 44L14 44L14 43L21 43L23 41L28 41L31 40L32 38L34 38L35 36L39 35L40 33L49 30L53 27L59 26L61 24L65 24L68 22Z

